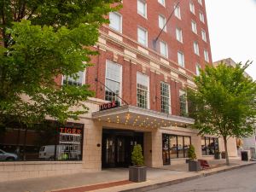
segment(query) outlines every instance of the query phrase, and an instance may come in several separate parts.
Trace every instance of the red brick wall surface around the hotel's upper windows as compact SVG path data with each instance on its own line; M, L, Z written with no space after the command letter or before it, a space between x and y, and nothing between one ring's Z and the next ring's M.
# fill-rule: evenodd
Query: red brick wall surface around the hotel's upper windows
M136 42L132 42L128 38L137 41L137 26L142 26L148 30L149 55L154 55L155 58L160 60L160 55L157 55L157 53L153 51L153 40L160 32L158 15L165 15L167 19L169 15L171 15L176 1L166 0L166 7L163 7L157 0L147 0L148 19L137 14L137 0L124 0L123 2L124 7L119 11L123 20L122 34L119 32L114 33L119 34L119 36L124 35L123 43L129 44L131 47L137 49ZM193 15L189 10L189 2L189 0L180 1L179 6L181 8L182 20L178 20L174 15L172 15L171 20L169 20L167 24L167 32L163 32L161 34L160 40L164 40L168 44L168 60L170 61L170 67L178 68L177 51L183 51L185 56L185 68L183 69L186 71L187 75L193 76L193 74L195 74L196 63L200 63L202 68L205 67L206 62L204 60L204 49L207 49L209 52L210 64L212 64L212 56L205 3L203 1L203 6L201 6L197 0L191 0L191 2L195 4L195 15ZM199 11L204 14L205 23L202 23L199 19ZM196 22L198 34L192 32L191 20ZM183 30L183 44L179 43L176 39L176 27L182 28ZM201 38L201 28L207 32L207 43ZM101 31L108 34L108 27L102 27ZM194 41L197 41L199 44L199 56L194 53ZM108 48L115 49L121 53L124 52L125 48L122 44L116 44L113 41L108 40L106 42ZM156 52L160 52L159 46L157 47ZM187 78L184 75L179 74L178 79L180 79L180 81L171 79L170 77L165 79L163 74L155 73L150 70L150 60L145 55L137 54L137 60L148 64L148 67L142 67L140 64L134 64L131 61L126 61L122 55L114 57L112 51L100 50L100 55L96 55L92 58L91 62L95 63L95 65L87 68L85 78L86 84L90 84L90 89L96 92L97 98L104 99L105 96L105 87L102 84L105 84L106 61L115 61L115 59L117 59L117 63L122 66L122 98L125 102L134 106L137 105L137 72L140 72L148 75L149 77L150 109L160 111L160 82L166 81L167 84L170 84L171 89L172 114L179 115L179 90L183 89L181 81L187 82ZM164 65L160 66L160 71L170 74L172 71L170 67L164 67ZM96 78L102 82L102 84L96 82ZM59 81L60 80L61 79L59 79Z

